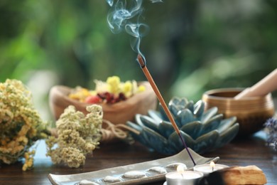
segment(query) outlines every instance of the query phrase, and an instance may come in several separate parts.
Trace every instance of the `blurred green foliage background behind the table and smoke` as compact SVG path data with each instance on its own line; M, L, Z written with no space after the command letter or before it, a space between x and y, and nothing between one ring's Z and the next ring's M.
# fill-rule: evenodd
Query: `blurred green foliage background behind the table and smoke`
M109 8L104 0L1 0L0 81L22 80L47 118L53 85L145 80L130 36L109 30ZM141 51L165 102L249 87L276 68L277 1L143 0L143 8L150 31Z

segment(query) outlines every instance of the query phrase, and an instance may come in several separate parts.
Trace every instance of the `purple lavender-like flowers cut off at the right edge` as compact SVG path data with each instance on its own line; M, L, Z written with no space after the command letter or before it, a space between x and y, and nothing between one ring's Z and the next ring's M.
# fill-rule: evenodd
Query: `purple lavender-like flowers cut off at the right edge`
M277 151L277 120L276 118L272 117L266 120L264 124L265 131L268 134L266 139L266 143L269 147L272 147L274 150Z

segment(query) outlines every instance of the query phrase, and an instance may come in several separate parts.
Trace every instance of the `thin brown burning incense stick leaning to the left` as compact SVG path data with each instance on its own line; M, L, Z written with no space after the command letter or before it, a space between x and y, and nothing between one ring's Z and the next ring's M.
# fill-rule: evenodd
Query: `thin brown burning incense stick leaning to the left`
M175 132L177 132L177 134L179 135L181 141L183 142L185 149L187 150L188 154L190 155L190 159L192 159L192 162L195 165L195 161L192 158L190 151L188 150L188 146L187 146L187 144L185 144L185 141L184 141L182 135L180 134L180 130L179 130L178 126L176 125L175 120L174 120L173 116L171 115L170 110L168 109L168 106L165 104L165 100L163 100L160 90L158 90L158 87L157 87L156 83L154 82L151 74L149 73L148 68L146 67L146 64L144 63L143 58L141 57L140 54L138 55L137 59L139 61L139 65L141 65L141 69L143 70L144 75L146 76L148 82L150 83L151 87L153 88L154 92L156 93L156 96L158 97L159 102L161 102L163 110L165 110L165 114L168 116L168 119L170 120L171 124L173 125L173 128L175 129Z

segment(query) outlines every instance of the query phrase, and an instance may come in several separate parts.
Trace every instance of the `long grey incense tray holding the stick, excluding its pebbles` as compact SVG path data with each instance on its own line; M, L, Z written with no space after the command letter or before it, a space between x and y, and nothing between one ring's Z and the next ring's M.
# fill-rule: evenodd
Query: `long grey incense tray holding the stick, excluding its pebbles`
M210 162L218 162L219 157L214 158L206 158L202 157L199 154L190 150L190 154L192 155L196 164L209 164ZM162 159L156 159L149 162L141 162L136 164L129 164L126 166L117 166L110 169L102 169L99 171L91 171L87 173L81 174L68 174L68 175L60 175L60 174L49 174L48 179L53 185L67 185L67 184L80 184L80 181L87 180L90 184L146 184L152 183L155 181L165 180L165 174L171 171L176 171L175 164L185 164L188 170L192 170L193 163L188 155L186 149L183 149L182 152L175 154L170 157L165 157ZM158 173L158 171L149 171L149 169L153 168L161 168L164 169L165 172ZM128 172L137 171L139 174L145 174L145 176L130 179L125 178L124 174ZM109 176L109 179L118 179L119 181L108 183L103 179Z

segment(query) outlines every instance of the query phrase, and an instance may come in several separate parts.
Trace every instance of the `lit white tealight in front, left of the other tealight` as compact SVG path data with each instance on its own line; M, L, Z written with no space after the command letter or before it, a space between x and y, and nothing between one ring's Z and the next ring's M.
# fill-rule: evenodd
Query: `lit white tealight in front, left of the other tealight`
M170 172L165 175L166 185L193 185L202 178L200 171L185 171L182 165L177 167L177 171Z

